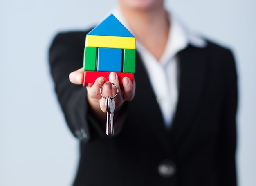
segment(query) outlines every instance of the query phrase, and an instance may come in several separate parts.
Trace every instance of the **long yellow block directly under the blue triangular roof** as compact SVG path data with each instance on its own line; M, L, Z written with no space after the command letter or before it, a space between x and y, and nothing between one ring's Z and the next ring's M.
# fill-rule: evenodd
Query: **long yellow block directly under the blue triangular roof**
M135 49L134 37L87 35L85 47Z

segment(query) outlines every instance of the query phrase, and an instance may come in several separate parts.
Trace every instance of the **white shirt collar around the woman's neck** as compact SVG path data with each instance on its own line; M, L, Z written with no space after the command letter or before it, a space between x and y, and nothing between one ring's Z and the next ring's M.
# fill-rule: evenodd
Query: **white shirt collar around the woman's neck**
M124 18L120 8L115 7L112 13L132 33L132 30L126 22L126 19ZM170 58L173 58L178 52L185 49L189 44L198 48L204 48L207 45L205 40L186 29L186 27L182 25L182 23L175 17L175 15L172 13L168 13L168 15L171 22L171 28L169 29L169 37L164 53L159 61L162 63L162 65L168 63ZM140 52L146 50L146 48L139 42L139 40L136 40L136 49Z

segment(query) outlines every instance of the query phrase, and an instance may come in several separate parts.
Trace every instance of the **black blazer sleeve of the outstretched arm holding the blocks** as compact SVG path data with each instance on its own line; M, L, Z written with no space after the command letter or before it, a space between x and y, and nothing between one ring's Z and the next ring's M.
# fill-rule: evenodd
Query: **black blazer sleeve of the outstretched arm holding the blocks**
M83 66L86 34L87 32L59 33L49 48L49 65L58 101L70 130L75 137L84 142L106 137L103 128L106 123L99 123L90 114L86 88L72 84L68 78L70 72ZM126 108L125 105L123 109ZM125 114L118 118L115 135L120 132L124 118Z

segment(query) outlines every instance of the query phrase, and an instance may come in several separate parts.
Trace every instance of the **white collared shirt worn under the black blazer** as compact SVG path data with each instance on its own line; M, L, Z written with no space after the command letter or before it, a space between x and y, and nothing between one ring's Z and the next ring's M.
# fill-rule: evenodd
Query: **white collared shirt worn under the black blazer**
M121 10L116 8L112 13L132 33ZM184 29L175 16L170 13L169 16L171 24L168 41L159 61L136 39L136 50L141 54L142 61L149 74L150 83L156 95L166 128L171 127L178 101L179 69L177 53L189 44L200 48L207 45L205 40Z

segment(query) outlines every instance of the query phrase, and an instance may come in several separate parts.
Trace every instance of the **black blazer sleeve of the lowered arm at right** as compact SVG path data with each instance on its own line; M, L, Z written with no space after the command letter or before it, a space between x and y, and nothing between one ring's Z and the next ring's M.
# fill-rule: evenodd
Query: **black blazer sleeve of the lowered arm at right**
M236 112L238 82L234 56L227 51L223 63L222 122L218 140L218 178L220 185L236 186Z

